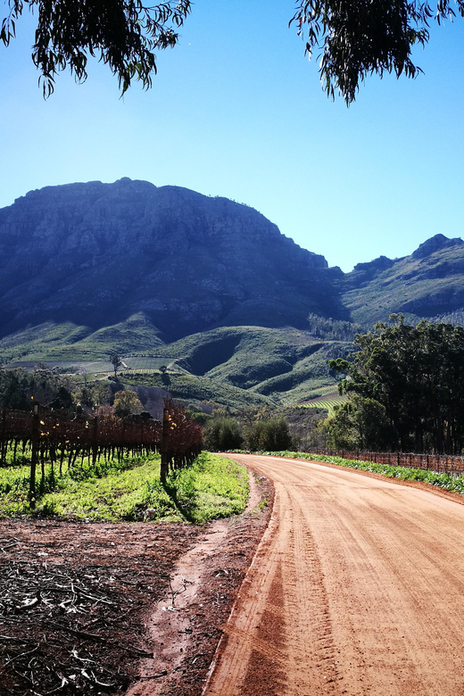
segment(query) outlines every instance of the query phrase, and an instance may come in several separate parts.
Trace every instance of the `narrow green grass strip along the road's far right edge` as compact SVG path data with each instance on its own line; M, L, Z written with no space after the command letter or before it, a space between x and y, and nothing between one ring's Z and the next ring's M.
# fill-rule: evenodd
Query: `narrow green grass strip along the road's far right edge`
M311 452L260 452L271 454L275 457L286 457L298 460L327 461L329 464L338 464L340 467L357 468L360 471L372 471L388 478L401 478L402 481L423 481L426 484L436 485L452 493L464 495L464 476L453 478L448 474L437 474L435 471L427 471L422 468L394 467L390 464L376 464L374 461L344 460L342 457L330 457L326 454L311 454Z

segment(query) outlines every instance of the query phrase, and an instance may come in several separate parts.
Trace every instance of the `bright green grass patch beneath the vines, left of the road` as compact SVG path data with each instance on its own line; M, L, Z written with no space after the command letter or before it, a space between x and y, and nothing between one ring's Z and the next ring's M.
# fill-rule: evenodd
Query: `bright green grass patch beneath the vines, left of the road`
M197 524L244 510L248 475L243 467L203 452L191 467L160 481L157 456L71 469L54 480L46 468L43 493L32 510L29 468L0 468L0 517L59 517L91 521L137 521L150 509L153 521Z

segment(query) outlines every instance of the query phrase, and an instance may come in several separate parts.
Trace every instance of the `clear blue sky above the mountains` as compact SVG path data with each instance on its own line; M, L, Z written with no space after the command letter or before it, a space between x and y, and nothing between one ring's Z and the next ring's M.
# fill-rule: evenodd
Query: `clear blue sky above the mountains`
M46 102L32 23L0 48L0 207L30 189L142 178L247 203L351 270L462 236L464 20L432 29L416 80L368 79L329 101L287 28L292 0L197 0L153 88L120 99L99 63ZM4 14L2 13L2 17Z

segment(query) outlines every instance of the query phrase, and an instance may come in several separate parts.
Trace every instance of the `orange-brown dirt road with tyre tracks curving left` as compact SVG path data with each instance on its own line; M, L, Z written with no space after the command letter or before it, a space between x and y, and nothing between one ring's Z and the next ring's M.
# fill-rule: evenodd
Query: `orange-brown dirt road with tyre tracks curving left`
M311 462L275 484L207 696L462 696L464 505Z

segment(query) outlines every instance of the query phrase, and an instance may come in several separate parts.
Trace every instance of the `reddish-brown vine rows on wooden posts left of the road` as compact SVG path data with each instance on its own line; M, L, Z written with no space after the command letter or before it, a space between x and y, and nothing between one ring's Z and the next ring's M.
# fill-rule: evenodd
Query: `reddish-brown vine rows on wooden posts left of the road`
M201 427L171 400L165 402L162 423L152 418L71 418L64 411L41 409L38 404L32 413L2 410L0 416L0 467L28 463L32 507L37 494L45 490L46 476L56 481L64 471L95 468L101 460L160 452L165 479L170 469L195 460L201 448Z

